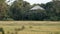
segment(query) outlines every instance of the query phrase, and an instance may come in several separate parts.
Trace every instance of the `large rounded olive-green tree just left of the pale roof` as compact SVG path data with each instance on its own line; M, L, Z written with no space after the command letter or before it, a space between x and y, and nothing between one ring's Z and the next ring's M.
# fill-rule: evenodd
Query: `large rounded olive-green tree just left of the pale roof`
M10 7L10 17L14 20L23 20L24 14L29 10L30 4L23 0L15 1Z

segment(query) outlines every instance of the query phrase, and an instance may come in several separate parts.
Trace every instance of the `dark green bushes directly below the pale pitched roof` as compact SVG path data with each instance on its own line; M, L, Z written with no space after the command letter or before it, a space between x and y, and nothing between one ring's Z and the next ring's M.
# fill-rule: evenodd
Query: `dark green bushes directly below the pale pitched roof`
M25 14L24 20L44 20L45 14L43 10L29 11Z

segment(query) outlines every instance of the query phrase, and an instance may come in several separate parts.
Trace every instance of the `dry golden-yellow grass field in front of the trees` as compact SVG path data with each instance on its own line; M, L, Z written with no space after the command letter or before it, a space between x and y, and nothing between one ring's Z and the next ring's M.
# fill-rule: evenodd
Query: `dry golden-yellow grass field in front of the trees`
M0 21L4 34L60 34L60 22Z

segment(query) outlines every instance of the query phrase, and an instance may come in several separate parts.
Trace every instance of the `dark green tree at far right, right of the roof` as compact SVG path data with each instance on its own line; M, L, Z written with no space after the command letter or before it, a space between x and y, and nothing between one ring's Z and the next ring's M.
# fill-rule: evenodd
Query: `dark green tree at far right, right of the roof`
M49 20L60 20L60 1L48 2L45 5L46 15Z

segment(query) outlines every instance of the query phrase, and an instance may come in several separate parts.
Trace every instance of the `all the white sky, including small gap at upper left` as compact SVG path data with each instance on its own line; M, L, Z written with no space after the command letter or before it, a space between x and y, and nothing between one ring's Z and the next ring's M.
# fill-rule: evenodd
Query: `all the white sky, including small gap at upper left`
M7 0L7 1L9 1L9 0ZM14 1L15 0L10 0L10 2L8 4L10 5ZM41 3L45 4L45 3L50 2L52 0L24 0L24 1L27 1L32 5L32 4L41 4Z

